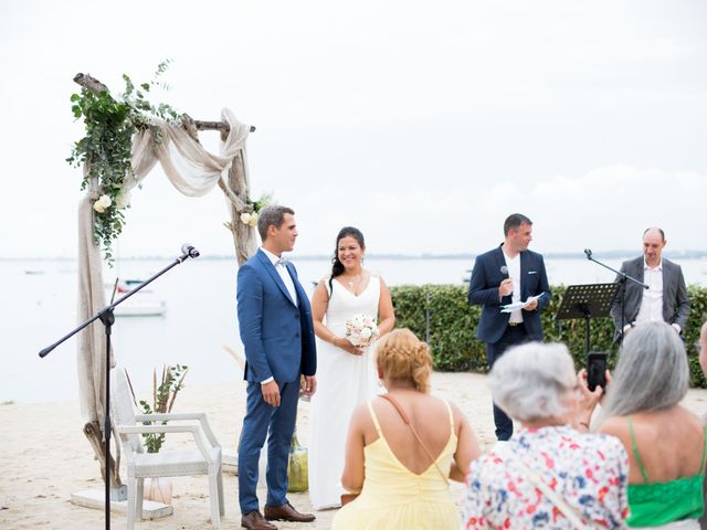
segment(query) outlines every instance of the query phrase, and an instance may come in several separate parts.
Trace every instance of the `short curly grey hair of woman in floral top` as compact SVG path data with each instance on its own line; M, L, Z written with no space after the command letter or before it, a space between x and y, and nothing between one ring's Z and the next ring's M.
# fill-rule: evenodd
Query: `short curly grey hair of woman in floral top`
M577 385L574 362L561 343L528 342L509 348L490 371L494 402L514 420L562 417L564 398Z

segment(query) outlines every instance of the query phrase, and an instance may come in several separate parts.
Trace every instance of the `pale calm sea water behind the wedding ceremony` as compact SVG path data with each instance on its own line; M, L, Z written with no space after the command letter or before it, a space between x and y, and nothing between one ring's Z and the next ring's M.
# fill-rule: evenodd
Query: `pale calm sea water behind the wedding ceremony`
M325 276L326 258L292 256L299 279L310 294ZM605 263L614 268L621 258ZM172 262L122 261L106 269L110 284L116 274L124 279L146 279ZM707 285L707 259L682 259L688 284ZM458 284L468 278L469 258L376 258L366 267L381 274L388 285ZM613 273L587 259L547 258L550 284L573 285L612 282ZM46 358L38 353L77 326L76 262L71 259L0 261L3 303L0 304L0 403L76 399L76 342L68 339ZM157 278L148 288L163 300L160 317L117 317L113 343L119 365L128 369L141 394L151 388L152 369L187 364L186 384L233 382L243 373L225 347L241 354L235 312L234 259L189 259ZM135 296L143 296L141 294ZM96 322L93 326L102 326Z

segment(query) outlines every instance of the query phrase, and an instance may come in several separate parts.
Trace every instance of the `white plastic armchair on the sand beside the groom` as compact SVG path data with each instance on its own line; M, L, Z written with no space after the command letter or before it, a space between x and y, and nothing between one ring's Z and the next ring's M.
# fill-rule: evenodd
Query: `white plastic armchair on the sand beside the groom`
M126 460L128 486L128 530L143 517L143 486L147 477L209 476L211 523L221 528L223 516L223 478L221 475L221 446L217 442L207 415L196 414L136 414L127 378L122 369L110 370L110 415ZM144 425L143 422L198 421L181 425ZM191 433L196 451L165 451L147 453L143 433ZM205 437L205 441L204 441ZM207 443L204 443L207 442Z

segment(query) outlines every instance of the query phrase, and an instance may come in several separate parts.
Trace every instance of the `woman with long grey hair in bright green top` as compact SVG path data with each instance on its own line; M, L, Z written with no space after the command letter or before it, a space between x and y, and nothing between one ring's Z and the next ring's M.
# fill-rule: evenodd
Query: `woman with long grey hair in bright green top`
M600 431L629 452L629 527L699 528L707 445L703 422L679 404L688 382L671 326L644 322L626 335Z

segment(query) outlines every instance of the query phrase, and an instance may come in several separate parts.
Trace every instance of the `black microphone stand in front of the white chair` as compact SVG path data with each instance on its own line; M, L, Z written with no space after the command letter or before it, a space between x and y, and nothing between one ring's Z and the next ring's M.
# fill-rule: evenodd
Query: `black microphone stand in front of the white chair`
M181 248L182 255L176 258L168 266L162 268L159 273L155 274L149 279L146 279L136 288L127 293L125 296L122 296L117 300L113 301L110 305L101 309L96 315L91 317L84 324L78 326L76 329L71 331L68 335L62 337L56 342L51 346L48 346L42 351L40 351L40 357L46 357L54 348L70 339L74 335L76 335L82 329L86 328L88 325L93 324L96 320L101 320L106 330L106 396L105 396L105 412L104 412L104 438L105 438L105 452L106 452L106 473L105 473L105 521L106 521L106 530L110 529L110 331L113 328L113 324L115 322L114 309L116 306L124 303L130 296L136 294L138 290L143 289L148 284L152 283L155 279L159 278L162 274L165 274L170 268L179 265L184 262L189 257L196 258L199 257L199 252L193 246L184 245ZM141 502L143 499L138 499L138 502Z

